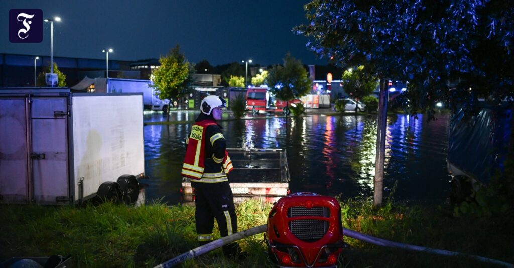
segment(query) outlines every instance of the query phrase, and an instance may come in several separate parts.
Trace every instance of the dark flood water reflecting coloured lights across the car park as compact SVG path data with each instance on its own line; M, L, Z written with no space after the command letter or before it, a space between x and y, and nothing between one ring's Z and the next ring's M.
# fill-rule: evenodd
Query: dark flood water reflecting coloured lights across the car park
M198 113L172 112L171 120L194 120ZM254 116L263 118L264 116ZM449 193L446 157L449 117L426 122L405 114L388 118L384 197L442 203ZM164 121L145 112L144 121ZM376 116L310 114L294 119L222 121L229 148L285 148L292 193L312 192L342 199L373 197ZM144 126L145 173L151 179L146 202L180 202L180 170L190 124ZM396 187L394 185L396 184Z

